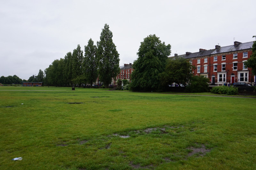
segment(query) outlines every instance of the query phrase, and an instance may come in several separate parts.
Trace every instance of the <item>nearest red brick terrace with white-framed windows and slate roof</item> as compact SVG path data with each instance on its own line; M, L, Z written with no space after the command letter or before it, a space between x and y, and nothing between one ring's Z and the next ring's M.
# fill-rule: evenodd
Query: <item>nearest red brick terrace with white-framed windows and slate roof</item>
M210 79L211 85L230 85L235 82L255 83L252 69L245 67L244 62L252 55L252 42L234 42L234 45L205 50L187 52L177 55L187 58L196 67L194 75L203 75Z

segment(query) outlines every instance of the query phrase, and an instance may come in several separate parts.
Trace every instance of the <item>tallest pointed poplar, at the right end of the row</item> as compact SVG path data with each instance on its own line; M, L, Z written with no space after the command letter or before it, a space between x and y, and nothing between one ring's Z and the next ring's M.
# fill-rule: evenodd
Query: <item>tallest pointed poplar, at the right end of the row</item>
M119 71L119 54L112 40L113 34L109 26L105 24L100 33L100 41L97 41L97 57L99 59L99 78L108 88L111 78L116 78Z

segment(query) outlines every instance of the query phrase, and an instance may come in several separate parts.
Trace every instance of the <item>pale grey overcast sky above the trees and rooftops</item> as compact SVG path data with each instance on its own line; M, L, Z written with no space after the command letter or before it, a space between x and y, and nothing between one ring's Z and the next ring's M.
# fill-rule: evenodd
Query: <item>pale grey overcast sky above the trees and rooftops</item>
M150 34L178 55L213 49L256 35L255 0L1 0L0 77L28 79L80 44L113 33L119 65L137 59Z

